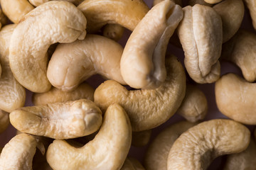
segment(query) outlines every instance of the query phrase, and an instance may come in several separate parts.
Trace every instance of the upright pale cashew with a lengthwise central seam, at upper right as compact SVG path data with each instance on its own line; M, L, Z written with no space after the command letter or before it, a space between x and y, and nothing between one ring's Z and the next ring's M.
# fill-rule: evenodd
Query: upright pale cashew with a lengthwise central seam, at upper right
M185 52L186 70L197 83L213 83L220 77L221 18L213 8L199 4L186 6L183 11L178 37Z

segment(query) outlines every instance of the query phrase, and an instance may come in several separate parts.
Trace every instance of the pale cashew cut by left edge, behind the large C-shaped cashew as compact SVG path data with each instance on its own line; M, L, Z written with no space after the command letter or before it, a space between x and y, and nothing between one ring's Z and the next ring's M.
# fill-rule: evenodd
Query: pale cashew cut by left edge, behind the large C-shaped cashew
M9 113L23 107L26 101L26 91L14 78L9 65L9 44L14 28L16 24L11 24L4 26L0 31L0 109Z

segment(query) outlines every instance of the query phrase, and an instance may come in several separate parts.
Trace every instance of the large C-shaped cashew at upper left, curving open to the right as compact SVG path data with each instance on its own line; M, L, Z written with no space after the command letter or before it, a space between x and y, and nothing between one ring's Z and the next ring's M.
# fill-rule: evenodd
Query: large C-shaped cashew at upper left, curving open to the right
M67 1L49 1L29 12L11 36L9 60L14 77L26 89L50 90L46 77L48 47L85 38L86 18Z

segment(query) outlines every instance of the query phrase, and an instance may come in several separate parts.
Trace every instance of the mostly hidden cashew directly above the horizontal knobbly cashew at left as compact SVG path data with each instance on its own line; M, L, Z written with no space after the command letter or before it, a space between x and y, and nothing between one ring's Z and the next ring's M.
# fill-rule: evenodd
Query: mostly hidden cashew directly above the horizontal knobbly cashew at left
M52 87L52 89L46 93L33 94L32 102L34 105L38 106L46 105L48 103L75 101L81 98L93 101L94 91L95 89L87 83L82 83L74 91L69 92L61 91L60 89Z

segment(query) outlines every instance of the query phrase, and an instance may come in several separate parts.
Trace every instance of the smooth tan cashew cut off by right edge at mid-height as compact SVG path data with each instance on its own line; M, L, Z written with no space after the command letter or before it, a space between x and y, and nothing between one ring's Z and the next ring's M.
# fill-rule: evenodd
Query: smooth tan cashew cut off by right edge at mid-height
M256 84L236 74L225 74L215 83L215 98L221 113L235 121L256 125Z

